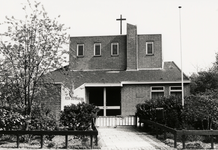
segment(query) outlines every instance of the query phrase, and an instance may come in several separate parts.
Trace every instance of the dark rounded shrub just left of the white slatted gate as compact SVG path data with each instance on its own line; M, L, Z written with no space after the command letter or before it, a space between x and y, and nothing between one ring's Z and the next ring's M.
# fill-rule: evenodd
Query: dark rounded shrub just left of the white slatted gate
M60 121L69 130L90 130L91 123L97 117L99 109L87 103L71 104L65 106L61 112Z

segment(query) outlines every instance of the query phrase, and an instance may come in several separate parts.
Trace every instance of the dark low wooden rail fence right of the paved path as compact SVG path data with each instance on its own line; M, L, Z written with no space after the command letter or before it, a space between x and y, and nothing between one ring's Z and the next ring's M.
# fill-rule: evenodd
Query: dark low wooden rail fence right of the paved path
M136 118L136 121L138 119ZM214 149L214 136L218 136L218 130L176 130L170 127L167 127L163 124L153 122L150 120L139 119L139 127L141 124L152 125L155 130L156 137L158 138L158 131L162 130L164 133L164 138L166 139L166 133L170 132L174 135L174 148L177 148L177 137L180 135L182 137L182 147L185 149L185 137L186 135L208 135L211 138L211 149ZM137 126L136 126L137 127Z

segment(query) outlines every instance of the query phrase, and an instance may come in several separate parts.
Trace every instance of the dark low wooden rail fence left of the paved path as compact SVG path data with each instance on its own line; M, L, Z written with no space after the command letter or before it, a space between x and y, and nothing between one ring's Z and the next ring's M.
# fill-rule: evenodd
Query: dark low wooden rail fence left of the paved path
M16 135L17 136L17 148L19 148L19 137L21 135L39 135L40 136L40 145L43 147L43 136L44 135L63 135L65 136L65 146L68 147L68 135L86 135L90 136L90 145L93 148L93 137L95 138L95 144L98 146L98 130L92 123L92 131L0 131L1 134L7 135Z

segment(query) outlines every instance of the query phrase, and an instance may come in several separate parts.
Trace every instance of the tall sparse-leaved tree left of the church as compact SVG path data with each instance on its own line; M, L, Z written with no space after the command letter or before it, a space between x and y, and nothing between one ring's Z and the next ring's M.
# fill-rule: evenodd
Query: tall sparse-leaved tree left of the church
M53 85L45 75L66 63L63 45L67 44L67 29L57 19L50 19L40 3L24 6L24 20L6 17L7 32L0 41L1 100L22 103L26 115L31 115L33 101L40 91ZM9 101L10 100L10 101Z

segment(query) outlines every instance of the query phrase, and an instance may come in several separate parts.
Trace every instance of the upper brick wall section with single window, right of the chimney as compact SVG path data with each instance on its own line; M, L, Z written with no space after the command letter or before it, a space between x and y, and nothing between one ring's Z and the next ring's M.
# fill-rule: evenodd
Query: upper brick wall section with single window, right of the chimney
M146 55L146 42L154 43L154 55ZM161 35L139 35L138 43L138 68L162 68Z

